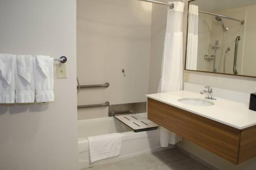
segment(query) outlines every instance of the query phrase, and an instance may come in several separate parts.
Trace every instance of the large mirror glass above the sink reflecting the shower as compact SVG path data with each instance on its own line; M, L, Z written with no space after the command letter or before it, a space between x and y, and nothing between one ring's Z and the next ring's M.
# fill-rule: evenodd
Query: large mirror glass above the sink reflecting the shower
M256 77L256 0L189 1L186 70Z

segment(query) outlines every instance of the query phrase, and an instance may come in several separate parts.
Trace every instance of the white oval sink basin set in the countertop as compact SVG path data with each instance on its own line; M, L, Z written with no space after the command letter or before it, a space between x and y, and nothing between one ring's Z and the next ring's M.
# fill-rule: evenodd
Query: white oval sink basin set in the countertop
M211 102L206 99L198 99L198 98L182 98L178 99L178 102L186 104L186 105L193 105L193 106L212 106L214 102Z

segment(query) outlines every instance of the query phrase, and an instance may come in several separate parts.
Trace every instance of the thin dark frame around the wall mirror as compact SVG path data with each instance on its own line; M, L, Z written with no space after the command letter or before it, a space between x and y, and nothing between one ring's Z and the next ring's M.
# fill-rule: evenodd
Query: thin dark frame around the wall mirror
M193 1L197 0L190 0L188 1L187 5L187 32L186 32L186 50L185 50L185 62L184 62L184 70L187 71L197 71L197 72L207 72L207 73L212 73L212 74L220 74L220 75L230 75L230 76L239 76L239 77L251 77L251 78L256 78L256 76L246 76L246 75L234 75L234 74L227 74L227 73L222 73L222 72L211 72L211 71L200 71L200 70L193 70L193 69L186 69L186 60L187 60L187 38L188 38L188 16L189 16L189 4Z

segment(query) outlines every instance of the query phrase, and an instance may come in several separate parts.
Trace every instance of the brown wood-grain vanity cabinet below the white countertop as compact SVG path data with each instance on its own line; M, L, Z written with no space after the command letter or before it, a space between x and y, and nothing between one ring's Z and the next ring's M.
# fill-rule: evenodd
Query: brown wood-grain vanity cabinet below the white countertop
M151 98L147 114L153 122L234 164L256 156L256 126L239 130Z

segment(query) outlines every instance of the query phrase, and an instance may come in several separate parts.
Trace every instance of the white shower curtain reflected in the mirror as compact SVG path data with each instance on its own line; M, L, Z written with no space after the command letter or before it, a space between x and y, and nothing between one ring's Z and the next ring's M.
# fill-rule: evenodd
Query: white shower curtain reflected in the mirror
M198 6L189 5L186 69L197 70Z

